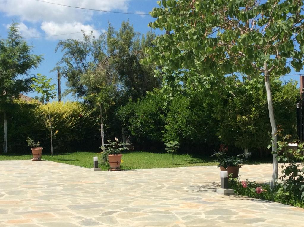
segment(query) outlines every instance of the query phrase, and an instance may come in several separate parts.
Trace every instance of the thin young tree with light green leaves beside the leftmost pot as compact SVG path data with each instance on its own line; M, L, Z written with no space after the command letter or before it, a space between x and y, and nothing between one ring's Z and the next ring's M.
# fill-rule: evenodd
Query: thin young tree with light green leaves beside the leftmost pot
M56 97L55 84L50 84L52 79L47 79L46 76L37 74L37 78L32 79L35 84L31 85L31 88L35 88L38 94L41 94L43 99L47 102L47 110L50 120L50 129L51 129L51 155L53 156L53 133L52 133L52 121L50 115L49 102L51 98Z

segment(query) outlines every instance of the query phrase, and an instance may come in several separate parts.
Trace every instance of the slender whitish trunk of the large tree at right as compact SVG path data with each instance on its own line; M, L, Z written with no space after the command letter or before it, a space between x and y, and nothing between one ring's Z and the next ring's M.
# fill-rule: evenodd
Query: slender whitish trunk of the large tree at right
M278 160L277 157L277 125L275 123L275 116L272 107L272 97L271 97L271 88L270 88L270 80L268 74L267 63L264 63L264 77L265 77L265 87L267 92L267 101L268 101L268 111L269 111L269 119L271 123L271 137L272 137L272 177L271 177L271 188L275 187L276 180L278 179Z

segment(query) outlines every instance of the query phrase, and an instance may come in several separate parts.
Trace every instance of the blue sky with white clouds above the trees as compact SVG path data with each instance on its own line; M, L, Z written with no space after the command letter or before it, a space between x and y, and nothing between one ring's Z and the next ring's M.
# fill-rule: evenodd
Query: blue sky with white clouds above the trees
M157 0L43 0L58 4L72 5L89 9L101 9L115 12L138 12L148 13L157 7ZM95 12L83 9L52 5L35 0L0 0L0 36L7 36L7 28L12 21L19 23L20 33L24 38L37 36L53 36L65 33L80 32L80 30L93 30L94 35L104 32L108 27L108 21L119 29L123 21L128 20L133 24L136 31L146 33L150 30L147 26L153 21L150 15L128 15L105 12ZM163 31L156 30L157 34ZM43 55L43 62L39 68L33 70L33 74L41 73L53 78L53 83L57 84L56 72L50 72L62 57L62 53L55 53L55 47L59 40L68 38L81 38L81 33L53 36L44 38L25 39L29 45L33 46L33 53ZM303 73L303 71L301 72ZM290 74L299 74L293 69ZM284 80L299 80L299 76L285 76ZM62 79L61 87L66 88ZM36 93L28 96L34 97ZM71 98L67 96L66 98Z

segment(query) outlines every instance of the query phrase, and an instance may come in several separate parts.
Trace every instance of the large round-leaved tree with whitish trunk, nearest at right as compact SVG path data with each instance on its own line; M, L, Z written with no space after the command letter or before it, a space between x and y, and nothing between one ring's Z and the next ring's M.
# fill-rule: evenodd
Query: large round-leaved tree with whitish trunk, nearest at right
M151 28L165 29L165 35L147 48L170 84L184 72L217 77L228 74L264 76L271 122L273 173L271 187L278 178L277 126L273 111L270 76L299 72L303 66L304 23L301 0L168 0L150 13L157 18Z

